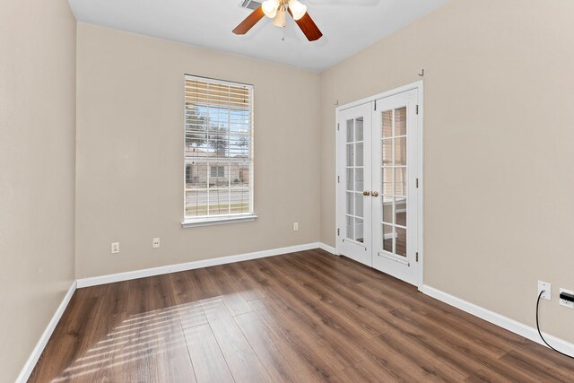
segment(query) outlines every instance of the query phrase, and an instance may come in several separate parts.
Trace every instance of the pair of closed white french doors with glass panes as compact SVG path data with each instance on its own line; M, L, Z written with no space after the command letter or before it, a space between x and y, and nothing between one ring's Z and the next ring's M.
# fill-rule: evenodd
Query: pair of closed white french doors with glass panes
M419 277L418 91L337 113L337 250L412 284Z

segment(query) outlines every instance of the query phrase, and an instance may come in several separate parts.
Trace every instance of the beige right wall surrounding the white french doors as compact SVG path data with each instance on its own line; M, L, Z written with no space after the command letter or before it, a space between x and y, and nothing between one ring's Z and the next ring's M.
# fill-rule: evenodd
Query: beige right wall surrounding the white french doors
M321 240L335 244L335 107L424 77L424 282L574 341L574 3L459 0L327 70ZM484 208L484 206L489 206Z

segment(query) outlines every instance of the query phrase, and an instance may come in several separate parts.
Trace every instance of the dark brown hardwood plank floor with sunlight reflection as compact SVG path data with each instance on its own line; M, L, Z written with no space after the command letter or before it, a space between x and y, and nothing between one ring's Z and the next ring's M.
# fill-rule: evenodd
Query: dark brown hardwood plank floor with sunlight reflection
M32 382L574 381L574 361L311 250L79 289Z

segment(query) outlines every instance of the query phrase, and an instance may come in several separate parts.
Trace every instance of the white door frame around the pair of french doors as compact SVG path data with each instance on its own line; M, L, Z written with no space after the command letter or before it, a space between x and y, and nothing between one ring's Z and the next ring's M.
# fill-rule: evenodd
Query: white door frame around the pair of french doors
M404 86L400 86L398 88L389 90L389 91L383 91L382 93L378 93L375 94L374 96L370 96L361 100L356 100L353 102L349 102L347 104L344 105L340 105L337 108L335 108L335 254L337 256L340 256L341 253L339 252L339 241L336 239L337 237L337 229L338 229L338 223L337 222L337 209L339 208L339 193L337 193L338 190L338 182L337 182L337 176L339 176L339 174L337 174L338 169L337 169L337 148L339 147L339 135L336 135L336 131L337 131L337 126L340 124L340 121L338 119L339 117L339 112L345 109L350 109L353 107L357 107L363 104L367 104L370 102L376 101L376 100L380 100L380 99L385 99L387 97L390 96L395 96L396 94L400 94L400 93L404 93L405 91L413 91L413 90L417 90L417 95L418 95L418 100L417 100L417 105L419 106L419 118L417 118L417 129L418 129L418 133L419 133L419 142L418 142L418 152L419 152L419 174L418 174L418 178L419 178L419 195L418 195L418 205L419 205L419 209L418 209L418 214L417 214L417 231L418 231L418 238L417 238L417 242L419 243L419 270L418 270L418 275L417 275L417 287L419 289L419 291L421 291L422 289L422 285L424 282L424 224L423 224L423 213L424 213L424 129L423 129L423 121L424 121L424 97L423 97L423 91L424 91L424 86L423 86L423 81L417 81L414 83L409 83L406 84Z

